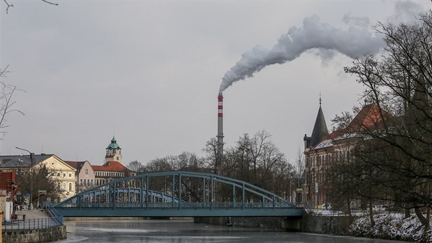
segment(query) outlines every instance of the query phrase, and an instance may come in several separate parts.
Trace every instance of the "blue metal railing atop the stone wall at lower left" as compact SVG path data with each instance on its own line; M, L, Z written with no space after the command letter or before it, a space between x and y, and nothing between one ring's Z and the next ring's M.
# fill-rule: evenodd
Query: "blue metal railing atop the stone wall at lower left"
M26 231L32 229L49 229L63 225L63 216L47 203L47 211L51 218L27 218L23 220L3 220L2 231Z

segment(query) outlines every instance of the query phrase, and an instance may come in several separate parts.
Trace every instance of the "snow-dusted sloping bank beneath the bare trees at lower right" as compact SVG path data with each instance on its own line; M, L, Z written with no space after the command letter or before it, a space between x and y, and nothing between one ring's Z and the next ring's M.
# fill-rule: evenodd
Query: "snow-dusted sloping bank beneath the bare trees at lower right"
M432 242L432 230L424 233L416 216L404 218L401 213L379 213L374 215L374 221L375 225L371 227L369 217L359 218L350 225L350 233L368 238Z

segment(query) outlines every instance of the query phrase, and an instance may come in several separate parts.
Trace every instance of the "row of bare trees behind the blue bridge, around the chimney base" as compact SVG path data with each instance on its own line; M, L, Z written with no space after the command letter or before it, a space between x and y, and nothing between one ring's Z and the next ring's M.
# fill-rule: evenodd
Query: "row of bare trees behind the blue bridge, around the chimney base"
M234 146L224 148L223 156L219 155L217 139L211 138L203 149L204 157L198 157L191 152L182 152L178 155L153 159L145 165L139 161L132 161L128 164L128 168L139 173L172 170L214 173L252 183L290 200L293 199L293 195L290 198L290 192L296 188L295 182L300 181L298 179L301 177L302 170L295 170L294 166L288 163L283 152L280 152L272 142L271 137L264 130L252 136L244 134L239 137ZM300 166L303 166L302 161ZM182 192L186 198L200 201L201 182L195 183L197 184L185 182L182 185ZM158 184L163 191L166 183L160 181ZM217 188L218 197L223 199L231 195L231 187Z

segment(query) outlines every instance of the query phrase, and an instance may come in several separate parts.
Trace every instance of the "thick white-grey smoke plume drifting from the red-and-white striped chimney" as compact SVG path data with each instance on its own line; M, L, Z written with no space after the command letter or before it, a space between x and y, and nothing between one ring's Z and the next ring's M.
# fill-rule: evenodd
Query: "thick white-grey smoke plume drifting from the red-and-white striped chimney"
M348 30L341 30L320 22L315 15L305 18L301 28L291 27L272 49L256 46L243 53L241 60L225 73L219 93L234 82L252 77L266 66L294 60L309 49L335 50L351 58L366 52L376 54L383 47L381 38L364 27L351 26Z

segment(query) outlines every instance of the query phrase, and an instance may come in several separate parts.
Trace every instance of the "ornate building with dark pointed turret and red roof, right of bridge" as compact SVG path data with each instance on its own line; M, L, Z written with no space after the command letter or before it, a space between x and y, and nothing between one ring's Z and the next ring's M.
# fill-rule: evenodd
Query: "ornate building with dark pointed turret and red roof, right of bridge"
M380 119L379 113L379 106L376 104L365 105L348 126L328 134L320 104L312 135L304 135L303 138L304 196L311 206L332 203L329 169L336 161L352 161L353 148L359 140L363 140L359 131L375 126Z

